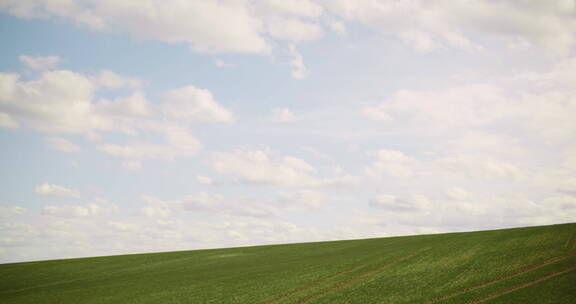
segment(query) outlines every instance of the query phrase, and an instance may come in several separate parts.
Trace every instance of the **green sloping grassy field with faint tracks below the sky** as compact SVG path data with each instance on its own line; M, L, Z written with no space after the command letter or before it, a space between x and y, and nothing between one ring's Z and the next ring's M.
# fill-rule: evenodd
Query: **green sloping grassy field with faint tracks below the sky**
M576 224L3 264L0 303L576 303Z

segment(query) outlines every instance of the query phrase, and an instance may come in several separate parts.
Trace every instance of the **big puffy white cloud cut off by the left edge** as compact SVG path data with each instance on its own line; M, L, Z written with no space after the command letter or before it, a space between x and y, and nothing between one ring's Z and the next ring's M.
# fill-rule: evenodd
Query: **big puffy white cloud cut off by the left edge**
M89 134L97 130L134 132L135 116L147 113L141 94L94 102L98 83L91 76L67 70L43 72L38 79L0 73L3 125L51 133Z

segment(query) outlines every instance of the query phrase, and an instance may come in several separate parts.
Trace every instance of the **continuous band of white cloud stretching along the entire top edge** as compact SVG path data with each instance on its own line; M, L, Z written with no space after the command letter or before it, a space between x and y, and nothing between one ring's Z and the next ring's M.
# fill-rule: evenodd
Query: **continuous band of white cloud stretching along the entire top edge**
M509 0L194 0L169 4L160 0L122 4L112 0L29 0L0 4L0 10L19 17L68 18L94 29L186 42L201 52L256 54L270 52L274 44L270 38L321 38L319 20L326 16L340 20L328 22L336 32L344 31L344 22L361 24L421 51L447 47L479 50L483 41L477 33L481 33L510 44L526 41L568 55L576 44L573 7L564 0L545 4Z

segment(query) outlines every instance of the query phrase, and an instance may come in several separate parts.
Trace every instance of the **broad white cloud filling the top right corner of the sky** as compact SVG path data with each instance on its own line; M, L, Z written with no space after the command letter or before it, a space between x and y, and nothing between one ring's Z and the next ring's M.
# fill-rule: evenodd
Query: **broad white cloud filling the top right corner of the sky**
M388 1L323 0L320 3L348 22L396 36L417 50L443 47L478 50L473 32L523 39L560 54L576 44L570 1Z

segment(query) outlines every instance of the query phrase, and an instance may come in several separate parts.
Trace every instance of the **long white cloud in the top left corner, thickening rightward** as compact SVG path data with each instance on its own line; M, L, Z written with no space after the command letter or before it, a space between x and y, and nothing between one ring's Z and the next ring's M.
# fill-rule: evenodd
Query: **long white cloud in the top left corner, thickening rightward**
M165 42L187 42L202 52L267 53L261 21L244 1L164 3L9 1L0 9L21 17L60 17L99 30L123 30ZM149 12L154 11L153 15Z

